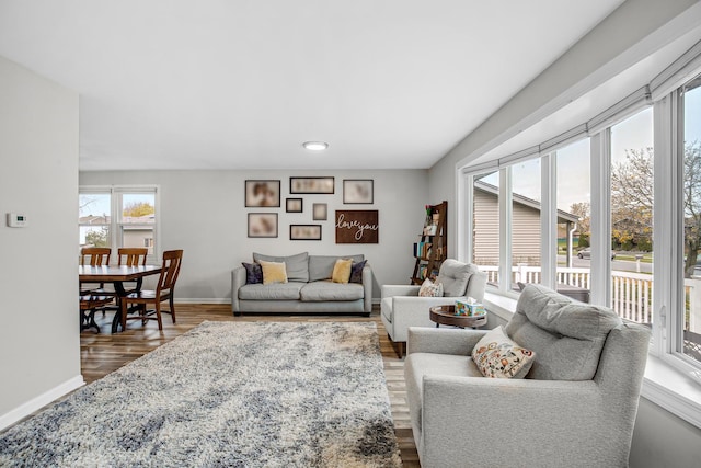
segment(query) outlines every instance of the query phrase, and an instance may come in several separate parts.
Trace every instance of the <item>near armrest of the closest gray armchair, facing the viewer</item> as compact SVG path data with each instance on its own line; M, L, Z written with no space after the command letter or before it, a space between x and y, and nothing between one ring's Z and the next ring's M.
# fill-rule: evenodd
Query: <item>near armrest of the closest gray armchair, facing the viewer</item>
M530 466L568 466L572 460L627 465L599 458L600 447L616 440L604 429L609 421L601 409L601 392L591 380L425 375L422 464L455 466L455 460L469 459L472 466L522 466L526 459Z

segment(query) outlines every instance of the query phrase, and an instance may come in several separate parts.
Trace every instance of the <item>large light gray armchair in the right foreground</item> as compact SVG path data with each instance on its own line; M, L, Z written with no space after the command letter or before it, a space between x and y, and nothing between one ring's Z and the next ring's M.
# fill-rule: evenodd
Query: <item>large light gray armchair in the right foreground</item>
M486 378L486 330L411 328L404 366L423 466L625 467L650 330L528 285L504 330L536 353L525 379Z

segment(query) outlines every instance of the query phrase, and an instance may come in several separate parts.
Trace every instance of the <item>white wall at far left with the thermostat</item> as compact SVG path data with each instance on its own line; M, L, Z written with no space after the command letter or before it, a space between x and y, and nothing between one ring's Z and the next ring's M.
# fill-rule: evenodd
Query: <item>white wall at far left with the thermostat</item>
M82 385L78 95L0 57L0 429ZM5 214L30 226L9 228Z

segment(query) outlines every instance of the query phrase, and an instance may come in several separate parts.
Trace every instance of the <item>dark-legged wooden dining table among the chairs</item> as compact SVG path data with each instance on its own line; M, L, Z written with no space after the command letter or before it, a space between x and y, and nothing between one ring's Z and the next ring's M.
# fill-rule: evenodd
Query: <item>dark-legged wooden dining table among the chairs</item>
M161 265L137 265L137 266L117 266L117 265L79 265L78 281L83 283L112 283L114 285L115 295L117 297L117 313L112 320L112 332L118 331L122 323L122 316L126 315L127 301L123 300L128 292L124 287L125 282L139 282L149 275L158 275L161 273ZM124 330L123 330L124 331Z

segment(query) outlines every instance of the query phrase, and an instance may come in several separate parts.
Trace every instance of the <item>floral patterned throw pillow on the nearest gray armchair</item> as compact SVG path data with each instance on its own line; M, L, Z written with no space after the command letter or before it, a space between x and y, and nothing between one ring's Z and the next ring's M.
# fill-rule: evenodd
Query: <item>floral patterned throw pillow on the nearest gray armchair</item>
M487 331L472 350L472 361L484 377L524 378L535 358L536 353L512 341L502 326Z

